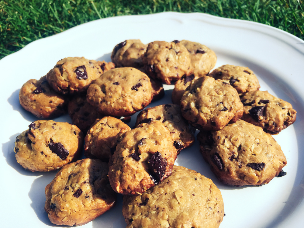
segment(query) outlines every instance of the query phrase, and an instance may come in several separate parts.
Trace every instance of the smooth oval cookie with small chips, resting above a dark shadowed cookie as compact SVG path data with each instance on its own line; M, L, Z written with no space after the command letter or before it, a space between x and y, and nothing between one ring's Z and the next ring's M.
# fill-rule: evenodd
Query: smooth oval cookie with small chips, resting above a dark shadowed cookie
M151 99L150 79L132 67L105 72L87 92L88 102L104 116L131 116L149 105Z

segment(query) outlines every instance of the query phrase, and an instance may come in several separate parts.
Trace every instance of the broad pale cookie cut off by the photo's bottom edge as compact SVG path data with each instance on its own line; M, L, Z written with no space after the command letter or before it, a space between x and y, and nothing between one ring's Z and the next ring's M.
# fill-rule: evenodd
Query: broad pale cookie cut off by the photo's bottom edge
M208 227L223 221L220 190L209 178L174 165L170 177L142 195L123 196L127 228Z

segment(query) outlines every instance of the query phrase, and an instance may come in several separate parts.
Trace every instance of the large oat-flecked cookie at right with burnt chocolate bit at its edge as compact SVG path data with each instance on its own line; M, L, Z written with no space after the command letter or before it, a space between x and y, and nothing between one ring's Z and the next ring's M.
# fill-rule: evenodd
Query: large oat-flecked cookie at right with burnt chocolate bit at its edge
M287 163L270 134L243 120L219 131L201 131L197 139L211 171L227 185L268 184Z

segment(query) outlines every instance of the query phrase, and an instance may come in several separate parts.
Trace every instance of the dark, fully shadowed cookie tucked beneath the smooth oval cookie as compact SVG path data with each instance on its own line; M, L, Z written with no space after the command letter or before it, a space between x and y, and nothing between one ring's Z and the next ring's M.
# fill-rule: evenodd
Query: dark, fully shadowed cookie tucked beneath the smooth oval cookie
M79 129L87 133L96 119L103 117L87 101L86 95L74 95L67 106L67 111L72 119L72 123Z

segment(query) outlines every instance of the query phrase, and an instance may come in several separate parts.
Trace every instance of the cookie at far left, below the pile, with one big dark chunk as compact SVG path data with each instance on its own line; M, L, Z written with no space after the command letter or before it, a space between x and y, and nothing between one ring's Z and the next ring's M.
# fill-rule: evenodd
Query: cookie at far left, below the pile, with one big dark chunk
M37 120L17 136L14 151L23 168L52 171L75 160L81 153L83 135L77 126L53 120Z

